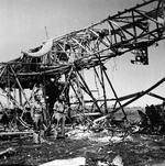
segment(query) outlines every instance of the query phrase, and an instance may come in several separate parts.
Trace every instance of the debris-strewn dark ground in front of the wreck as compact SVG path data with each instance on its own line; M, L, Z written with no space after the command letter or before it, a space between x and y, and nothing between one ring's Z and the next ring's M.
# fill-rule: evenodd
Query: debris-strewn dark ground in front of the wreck
M97 166L98 162L111 165L120 156L124 166L165 165L165 140L163 136L112 133L105 130L98 133L75 129L66 139L46 137L48 143L34 144L32 136L6 137L0 141L0 151L9 147L14 152L1 155L0 165L35 166L54 159L85 157L86 165ZM163 164L164 163L164 164Z

